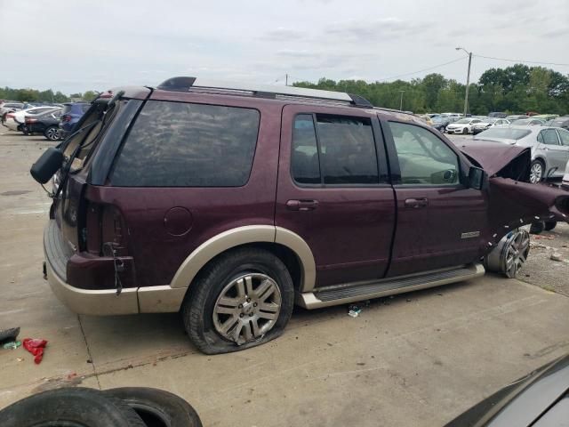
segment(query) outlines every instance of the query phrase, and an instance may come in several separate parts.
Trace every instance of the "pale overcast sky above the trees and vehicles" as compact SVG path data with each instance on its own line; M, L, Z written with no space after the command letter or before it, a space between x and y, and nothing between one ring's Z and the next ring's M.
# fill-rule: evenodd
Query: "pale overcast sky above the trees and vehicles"
M0 35L0 87L63 93L173 76L464 83L457 46L471 81L515 63L480 56L569 74L568 0L0 0Z

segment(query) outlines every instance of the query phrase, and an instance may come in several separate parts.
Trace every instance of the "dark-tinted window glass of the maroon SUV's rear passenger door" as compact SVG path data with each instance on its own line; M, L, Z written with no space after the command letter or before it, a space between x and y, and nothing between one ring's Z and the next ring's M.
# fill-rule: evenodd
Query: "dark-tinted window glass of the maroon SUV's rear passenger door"
M302 114L293 128L293 179L301 184L377 184L368 118Z

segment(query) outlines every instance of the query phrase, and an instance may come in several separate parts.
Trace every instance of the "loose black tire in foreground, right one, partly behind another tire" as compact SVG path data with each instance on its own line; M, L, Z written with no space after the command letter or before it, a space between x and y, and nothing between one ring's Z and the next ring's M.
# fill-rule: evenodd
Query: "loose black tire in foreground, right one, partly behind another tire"
M168 391L148 387L121 387L103 391L121 399L148 427L202 427L196 410Z

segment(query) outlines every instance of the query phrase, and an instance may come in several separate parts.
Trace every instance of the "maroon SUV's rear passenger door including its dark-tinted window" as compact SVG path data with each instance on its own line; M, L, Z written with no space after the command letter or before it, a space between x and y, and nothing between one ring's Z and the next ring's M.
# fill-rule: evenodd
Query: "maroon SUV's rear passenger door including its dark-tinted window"
M395 219L377 117L285 106L275 221L308 243L317 286L382 278Z

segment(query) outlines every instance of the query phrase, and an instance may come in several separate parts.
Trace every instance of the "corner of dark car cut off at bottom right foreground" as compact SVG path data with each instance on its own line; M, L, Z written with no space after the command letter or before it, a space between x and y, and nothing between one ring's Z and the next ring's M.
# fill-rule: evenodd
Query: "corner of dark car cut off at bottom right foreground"
M569 425L569 355L496 391L445 427Z

